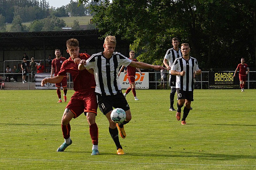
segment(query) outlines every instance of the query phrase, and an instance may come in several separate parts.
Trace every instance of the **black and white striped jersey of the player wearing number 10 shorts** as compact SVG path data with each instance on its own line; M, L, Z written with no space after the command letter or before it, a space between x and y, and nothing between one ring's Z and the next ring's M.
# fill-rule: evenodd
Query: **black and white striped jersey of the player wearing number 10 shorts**
M185 60L183 57L174 60L171 70L178 72L185 71L185 76L176 76L176 88L180 88L184 91L194 90L194 71L199 70L197 60L193 57L189 57L189 60Z

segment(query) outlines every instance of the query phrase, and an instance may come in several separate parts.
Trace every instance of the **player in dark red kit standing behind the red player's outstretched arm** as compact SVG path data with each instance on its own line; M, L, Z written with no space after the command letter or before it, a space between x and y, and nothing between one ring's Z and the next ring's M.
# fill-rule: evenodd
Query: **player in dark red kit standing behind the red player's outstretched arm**
M58 75L62 63L66 60L66 58L61 57L60 55L61 55L60 50L59 50L59 49L56 49L56 50L55 50L55 56L56 56L56 58L52 60L51 77L52 77L52 75L53 75L53 72L54 72L54 76L57 76L57 75ZM64 101L66 102L66 101L67 101L67 96L66 96L66 95L67 95L67 91L68 91L68 89L67 89L67 77L65 76L65 78L63 78L61 82L56 83L55 86L57 87L57 95L58 95L58 97L59 97L58 103L62 103L61 91L60 91L60 87L61 87L61 86L63 87Z

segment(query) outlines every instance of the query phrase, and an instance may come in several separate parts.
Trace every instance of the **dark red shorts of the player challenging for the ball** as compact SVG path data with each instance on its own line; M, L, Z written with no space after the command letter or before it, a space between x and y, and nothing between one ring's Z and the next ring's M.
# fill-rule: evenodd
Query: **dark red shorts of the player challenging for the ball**
M86 115L86 112L97 114L98 104L94 88L89 92L75 92L66 108L75 114L74 118L77 118L82 113Z

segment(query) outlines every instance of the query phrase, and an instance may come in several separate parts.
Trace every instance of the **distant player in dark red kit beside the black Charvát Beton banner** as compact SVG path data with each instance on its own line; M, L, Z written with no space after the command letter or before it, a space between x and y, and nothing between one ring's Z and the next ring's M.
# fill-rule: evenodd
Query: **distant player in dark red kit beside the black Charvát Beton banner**
M245 82L246 82L246 75L249 73L250 69L246 63L244 63L244 58L241 58L241 63L235 69L236 71L239 69L239 80L240 80L240 87L242 92L244 92ZM247 71L246 71L247 70ZM235 74L233 77L235 77Z

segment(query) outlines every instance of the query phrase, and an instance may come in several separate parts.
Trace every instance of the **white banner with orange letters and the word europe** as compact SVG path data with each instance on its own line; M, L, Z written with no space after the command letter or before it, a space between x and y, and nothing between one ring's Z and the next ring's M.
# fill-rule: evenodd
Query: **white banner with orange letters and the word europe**
M121 73L119 76L119 81L123 89L128 88L130 86L127 74ZM142 72L136 73L135 75L135 88L136 89L149 89L149 73Z

